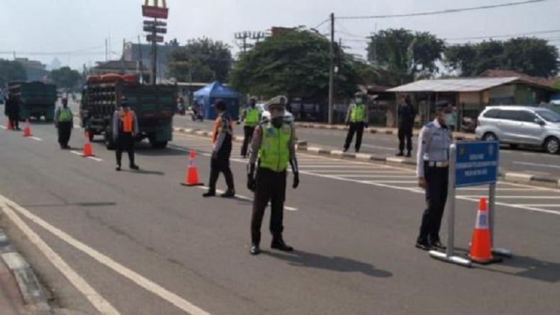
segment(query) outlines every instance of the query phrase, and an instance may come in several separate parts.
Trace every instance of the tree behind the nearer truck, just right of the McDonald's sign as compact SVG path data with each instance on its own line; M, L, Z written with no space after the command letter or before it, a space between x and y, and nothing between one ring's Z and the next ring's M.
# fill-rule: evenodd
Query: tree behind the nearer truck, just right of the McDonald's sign
M233 62L230 47L208 38L189 40L184 47L172 50L169 76L178 81L225 81Z

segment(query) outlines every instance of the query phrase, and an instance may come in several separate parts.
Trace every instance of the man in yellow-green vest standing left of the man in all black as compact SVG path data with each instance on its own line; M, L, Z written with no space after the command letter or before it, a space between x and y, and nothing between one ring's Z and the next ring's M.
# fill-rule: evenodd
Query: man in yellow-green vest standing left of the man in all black
M350 144L352 143L354 133L356 134L356 144L354 144L356 152L359 152L359 148L362 146L364 128L367 128L369 125L369 115L365 102L366 96L364 93L358 91L354 94L354 103L349 106L346 114L346 125L349 125L349 129L344 146L345 152L348 151Z

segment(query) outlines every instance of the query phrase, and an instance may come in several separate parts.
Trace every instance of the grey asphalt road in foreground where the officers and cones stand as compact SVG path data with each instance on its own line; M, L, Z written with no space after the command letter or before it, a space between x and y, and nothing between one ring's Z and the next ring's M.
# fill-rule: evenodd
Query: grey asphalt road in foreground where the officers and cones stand
M81 132L74 132L72 147L82 147ZM157 151L141 144L141 171L119 173L113 151L101 143L88 159L58 149L52 125L33 124L32 133L0 130L1 199L21 206L10 209L67 268L55 267L5 215L1 224L62 309L98 314L93 305L101 302L113 314L135 315L560 309L559 190L498 184L495 243L515 256L468 269L414 248L424 201L412 171L300 154L301 187L288 190L284 222L296 251L271 250L265 221L265 252L250 256L250 202L204 199L203 189L179 185L190 149L199 152L199 176L208 178L209 139L174 134L170 148ZM237 193L250 198L245 161L233 159L232 167ZM220 178L218 187L224 185ZM484 192L459 192L459 251ZM65 277L69 269L83 282ZM89 295L94 303L82 293L84 283L96 292Z

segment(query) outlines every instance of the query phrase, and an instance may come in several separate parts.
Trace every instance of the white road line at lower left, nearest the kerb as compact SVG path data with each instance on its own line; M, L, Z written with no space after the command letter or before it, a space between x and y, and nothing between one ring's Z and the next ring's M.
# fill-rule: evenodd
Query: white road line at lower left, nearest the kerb
M40 236L36 234L35 231L28 226L28 224L26 224L26 222L23 222L14 210L11 210L11 208L8 207L7 204L9 202L10 200L0 195L0 208L4 210L4 213L11 219L13 224L16 224L18 229L20 229L23 234L26 234L27 238L35 244L37 248L39 248L41 253L43 253L48 260L50 260L50 263L52 263L52 265L54 265L55 268L62 273L62 275L65 275L69 282L71 282L72 285L79 290L79 292L84 294L84 297L89 300L91 305L93 305L101 314L120 314L109 302L107 302L106 299L97 293L96 290L91 287L86 280L84 280L84 278L80 277L78 273L76 273L76 271L74 271L74 269L66 263L65 260L55 253L55 251L53 251L52 248L50 248L50 246L48 246L45 241L43 241L43 239L41 239Z

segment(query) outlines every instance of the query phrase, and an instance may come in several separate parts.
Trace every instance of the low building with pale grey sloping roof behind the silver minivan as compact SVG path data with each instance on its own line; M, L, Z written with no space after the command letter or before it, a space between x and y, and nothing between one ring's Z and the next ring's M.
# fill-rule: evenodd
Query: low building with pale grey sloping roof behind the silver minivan
M459 121L476 118L486 105L535 105L548 103L560 89L522 76L420 80L389 92L408 94L418 109L419 123L432 120L435 103L449 101L457 106ZM395 121L388 125L391 127Z

